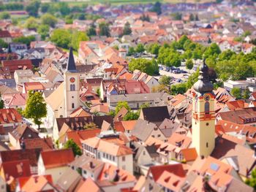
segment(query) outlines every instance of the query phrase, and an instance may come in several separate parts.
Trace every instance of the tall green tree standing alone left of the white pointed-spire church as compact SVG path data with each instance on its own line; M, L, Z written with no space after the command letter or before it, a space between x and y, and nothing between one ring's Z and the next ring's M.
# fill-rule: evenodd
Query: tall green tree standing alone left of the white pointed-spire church
M26 101L23 114L26 118L32 118L38 129L40 128L41 118L45 118L47 115L46 103L42 93L29 91L29 98Z

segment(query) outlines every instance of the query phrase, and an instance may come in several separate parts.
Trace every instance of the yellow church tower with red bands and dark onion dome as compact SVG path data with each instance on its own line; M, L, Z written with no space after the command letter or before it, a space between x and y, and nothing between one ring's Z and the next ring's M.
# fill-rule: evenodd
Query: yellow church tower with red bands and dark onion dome
M200 75L194 84L192 110L192 145L198 155L211 155L215 146L214 86L209 80L205 61L200 65Z

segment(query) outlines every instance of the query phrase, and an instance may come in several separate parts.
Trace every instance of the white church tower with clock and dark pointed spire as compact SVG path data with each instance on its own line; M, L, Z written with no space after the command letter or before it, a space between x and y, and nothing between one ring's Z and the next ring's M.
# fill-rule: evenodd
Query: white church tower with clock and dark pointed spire
M64 94L65 94L65 116L68 117L71 112L80 107L79 96L79 73L75 67L75 59L72 47L69 49L69 58L67 69L64 72Z

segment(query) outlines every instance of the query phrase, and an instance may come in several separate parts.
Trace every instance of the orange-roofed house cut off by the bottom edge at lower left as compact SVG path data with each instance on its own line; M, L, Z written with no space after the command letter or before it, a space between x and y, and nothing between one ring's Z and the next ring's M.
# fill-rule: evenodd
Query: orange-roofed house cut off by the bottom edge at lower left
M30 177L19 177L15 191L53 191L59 190L53 185L53 177L46 175L31 175Z

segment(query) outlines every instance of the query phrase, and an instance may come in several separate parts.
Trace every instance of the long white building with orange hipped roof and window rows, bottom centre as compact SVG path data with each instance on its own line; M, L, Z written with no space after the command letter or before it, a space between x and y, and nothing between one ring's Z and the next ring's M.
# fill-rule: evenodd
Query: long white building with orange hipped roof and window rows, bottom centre
M124 145L118 137L119 134L109 131L108 134L102 133L97 137L86 139L83 141L83 153L114 164L132 174L132 149ZM111 142L110 139L115 142Z

